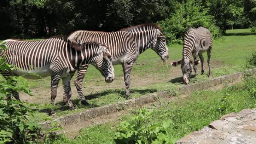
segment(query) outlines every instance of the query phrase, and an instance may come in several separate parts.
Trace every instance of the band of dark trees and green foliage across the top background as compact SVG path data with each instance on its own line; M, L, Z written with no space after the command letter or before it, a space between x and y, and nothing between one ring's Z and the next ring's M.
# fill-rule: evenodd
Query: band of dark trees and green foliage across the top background
M49 37L74 30L116 31L159 23L172 42L188 26L204 26L214 37L226 29L255 30L256 0L1 0L0 39Z

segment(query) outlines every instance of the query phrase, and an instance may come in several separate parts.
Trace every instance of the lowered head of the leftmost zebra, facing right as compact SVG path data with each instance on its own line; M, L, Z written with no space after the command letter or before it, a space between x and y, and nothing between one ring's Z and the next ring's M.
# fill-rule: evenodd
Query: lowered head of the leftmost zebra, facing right
M109 52L109 48L105 45L100 45L101 52L98 59L95 60L94 66L100 70L101 74L105 77L107 83L115 80L115 70L112 64L112 55Z

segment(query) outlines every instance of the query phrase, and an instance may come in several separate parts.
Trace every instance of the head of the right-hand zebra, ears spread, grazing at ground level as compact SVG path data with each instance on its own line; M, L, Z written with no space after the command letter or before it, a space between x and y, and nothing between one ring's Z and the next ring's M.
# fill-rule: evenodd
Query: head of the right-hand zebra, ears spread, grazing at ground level
M172 62L171 65L173 66L177 66L179 64L180 68L182 69L182 74L183 74L183 83L188 85L189 80L190 80L190 76L192 73L192 65L191 64L195 64L198 65L200 63L200 61L196 60L196 61L191 61L190 59L182 59L180 61L177 62Z

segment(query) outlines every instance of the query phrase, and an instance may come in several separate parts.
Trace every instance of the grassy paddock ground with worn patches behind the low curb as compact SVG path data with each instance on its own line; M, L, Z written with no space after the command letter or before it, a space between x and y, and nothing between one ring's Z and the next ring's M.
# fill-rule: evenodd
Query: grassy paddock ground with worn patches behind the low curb
M142 53L132 69L131 76L131 97L138 97L156 91L164 91L174 89L182 85L182 72L180 67L170 67L172 61L177 61L182 58L182 45L168 46L170 50L170 59L168 64L163 64L159 56L151 49ZM250 33L249 29L227 30L227 36L223 40L215 41L212 50L212 77L218 77L225 74L243 71L245 58L252 51L256 50L256 35ZM207 59L206 53L204 58ZM121 65L115 65L116 80L108 85L104 82L104 77L100 72L90 65L83 83L83 92L87 95L90 107L85 107L80 104L74 87L74 77L72 79L72 98L74 99L76 110L66 110L59 102L62 101L62 86L60 82L58 88L58 96L55 101L55 111L57 116L82 111L91 107L99 107L106 104L123 101L124 98L124 80ZM201 70L201 66L198 66ZM208 64L205 61L205 74L199 75L198 80L209 79L207 76ZM50 108L50 79L46 77L40 80L28 80L30 88L34 96L21 94L22 101L38 104L36 109ZM194 79L191 79L194 82ZM46 113L36 112L36 117L33 120L51 119Z

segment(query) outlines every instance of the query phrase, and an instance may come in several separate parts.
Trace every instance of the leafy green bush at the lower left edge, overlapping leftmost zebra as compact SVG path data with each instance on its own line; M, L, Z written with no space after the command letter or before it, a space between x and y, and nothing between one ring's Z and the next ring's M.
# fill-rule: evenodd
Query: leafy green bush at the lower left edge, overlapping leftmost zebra
M0 52L7 49L0 43ZM0 57L0 71L11 70L5 59ZM13 86L11 81L17 81ZM33 111L24 102L6 98L10 90L30 93L28 85L22 77L10 77L7 81L0 80L0 144L27 144L39 137L41 128L38 123L30 122L27 117L33 116Z

